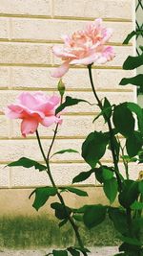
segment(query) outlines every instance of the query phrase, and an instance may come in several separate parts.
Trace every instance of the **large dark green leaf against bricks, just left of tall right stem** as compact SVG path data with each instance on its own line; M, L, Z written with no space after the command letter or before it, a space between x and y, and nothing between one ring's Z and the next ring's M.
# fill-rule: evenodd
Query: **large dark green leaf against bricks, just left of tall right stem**
M82 145L82 157L94 168L106 151L109 137L103 132L94 131L88 135Z

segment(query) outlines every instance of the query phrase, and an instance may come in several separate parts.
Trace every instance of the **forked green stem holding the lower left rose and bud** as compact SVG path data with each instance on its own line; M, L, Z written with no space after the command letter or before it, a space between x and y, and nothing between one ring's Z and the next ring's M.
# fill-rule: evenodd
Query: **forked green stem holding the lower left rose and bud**
M38 145L39 145L39 148L40 148L40 151L43 155L43 158L45 160L45 163L46 163L46 166L47 166L47 174L49 175L50 179L51 179L51 184L52 186L56 189L57 193L57 197L59 198L61 204L64 206L64 209L65 209L65 212L67 214L67 217L68 217L68 220L70 221L70 223L72 224L72 228L74 230L74 233L75 233L75 236L77 238L77 241L78 241L78 244L79 246L84 249L84 244L81 240L81 237L80 237L80 234L79 234L79 231L78 231L78 226L75 224L75 222L73 221L71 215L69 214L69 212L67 211L67 207L66 207L66 204L65 204L65 201L64 201L64 198L62 198L61 194L58 192L58 188L53 180L53 177L51 175L51 167L50 167L50 154L51 154L51 149L52 149L52 146L53 146L53 143L54 143L54 140L55 140L55 137L56 137L56 133L57 133L57 129L58 129L58 124L56 125L56 128L54 130L54 134L53 134L53 138L51 140L51 146L50 146L50 149L48 151L48 156L46 157L45 155L45 152L43 151L43 147L42 147L42 144L41 144L41 140L40 140L40 136L39 136L39 133L38 133L38 130L36 130L36 136L37 136L37 141L38 141ZM83 255L84 256L88 256L88 254L86 252L83 252Z

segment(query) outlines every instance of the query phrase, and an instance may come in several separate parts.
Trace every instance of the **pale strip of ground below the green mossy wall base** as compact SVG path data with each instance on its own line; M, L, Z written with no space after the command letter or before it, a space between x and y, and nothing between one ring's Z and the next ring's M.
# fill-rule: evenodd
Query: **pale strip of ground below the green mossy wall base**
M0 251L0 256L45 256L52 249L42 249L42 250L4 250ZM89 256L113 256L118 252L117 247L114 246L104 246L104 247L94 247L91 249L92 253Z

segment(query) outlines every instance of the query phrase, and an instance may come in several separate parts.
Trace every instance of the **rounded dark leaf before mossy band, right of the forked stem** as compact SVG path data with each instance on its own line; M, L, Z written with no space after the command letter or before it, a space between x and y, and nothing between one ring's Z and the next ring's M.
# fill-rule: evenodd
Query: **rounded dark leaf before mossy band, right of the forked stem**
M92 228L105 220L106 212L107 207L101 204L89 206L84 213L83 221L87 227Z

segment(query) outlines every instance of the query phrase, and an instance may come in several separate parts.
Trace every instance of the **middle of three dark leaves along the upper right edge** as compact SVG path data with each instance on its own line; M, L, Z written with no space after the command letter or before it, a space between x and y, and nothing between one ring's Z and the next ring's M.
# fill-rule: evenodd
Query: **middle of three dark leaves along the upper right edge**
M132 70L141 65L143 65L143 54L136 57L129 56L123 64L123 69Z

